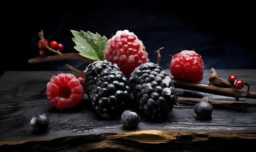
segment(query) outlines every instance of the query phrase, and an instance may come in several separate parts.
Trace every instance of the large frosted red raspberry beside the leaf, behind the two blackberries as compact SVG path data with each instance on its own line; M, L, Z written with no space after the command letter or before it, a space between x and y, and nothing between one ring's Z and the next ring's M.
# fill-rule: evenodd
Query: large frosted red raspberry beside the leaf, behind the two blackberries
M149 61L141 40L128 30L117 31L116 35L108 40L105 59L116 63L126 78L130 77L137 66Z

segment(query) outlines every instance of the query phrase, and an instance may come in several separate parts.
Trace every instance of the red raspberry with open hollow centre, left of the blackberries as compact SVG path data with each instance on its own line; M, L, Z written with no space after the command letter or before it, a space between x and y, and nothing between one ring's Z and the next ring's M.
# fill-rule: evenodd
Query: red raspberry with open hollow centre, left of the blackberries
M47 84L47 100L58 108L72 108L83 100L83 86L70 73L52 77Z

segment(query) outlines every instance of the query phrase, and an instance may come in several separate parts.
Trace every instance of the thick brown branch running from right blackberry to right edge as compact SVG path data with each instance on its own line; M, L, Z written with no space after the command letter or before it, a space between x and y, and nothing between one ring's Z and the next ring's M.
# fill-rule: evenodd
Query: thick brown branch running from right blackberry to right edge
M255 92L244 92L244 91L235 90L233 88L220 88L220 87L216 87L213 85L189 82L189 81L184 81L181 79L173 79L173 78L171 78L171 79L176 88L199 91L199 92L203 92L203 93L210 93L210 94L214 94L214 95L234 97L236 99L238 99L238 98L256 99Z

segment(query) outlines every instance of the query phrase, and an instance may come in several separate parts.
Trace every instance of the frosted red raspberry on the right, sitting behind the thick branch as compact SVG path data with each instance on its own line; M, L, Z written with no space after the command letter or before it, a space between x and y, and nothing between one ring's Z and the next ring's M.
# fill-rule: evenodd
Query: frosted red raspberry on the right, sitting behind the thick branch
M173 56L170 70L174 78L200 82L203 79L204 62L195 51L184 50Z

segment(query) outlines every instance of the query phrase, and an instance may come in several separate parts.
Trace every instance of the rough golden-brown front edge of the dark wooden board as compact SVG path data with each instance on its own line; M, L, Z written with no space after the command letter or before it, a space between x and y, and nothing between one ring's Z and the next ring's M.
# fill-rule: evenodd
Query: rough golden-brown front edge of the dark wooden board
M11 151L246 151L254 148L256 131L161 131L101 133L37 140L0 142ZM241 145L243 143L243 145Z

